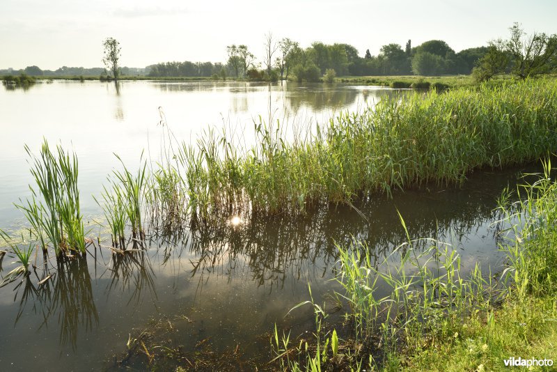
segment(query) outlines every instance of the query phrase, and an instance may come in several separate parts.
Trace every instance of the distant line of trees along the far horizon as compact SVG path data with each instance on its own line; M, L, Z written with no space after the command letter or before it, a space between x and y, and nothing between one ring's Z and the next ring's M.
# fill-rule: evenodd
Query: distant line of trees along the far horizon
M350 44L313 42L302 48L289 38L277 40L267 33L262 42L265 55L262 63L246 45L228 45L226 63L166 62L146 68L116 68L109 63L113 75L148 75L150 77L213 77L276 81L296 79L332 82L336 76L389 76L389 75L469 75L480 81L501 73L512 73L520 78L557 70L557 36L533 33L527 36L519 24L510 28L508 40L494 40L487 46L473 47L455 52L444 40L428 40L413 47L408 40L405 47L391 43L383 45L377 56L367 49L363 56ZM107 40L112 40L111 38ZM107 43L105 40L105 44ZM117 43L116 40L113 40ZM118 49L116 45L116 49ZM118 53L116 53L117 55ZM105 56L107 61L107 46ZM263 68L261 68L261 66ZM28 66L24 70L0 70L0 75L25 73L31 76L101 76L107 78L103 68L68 68L41 70ZM117 74L116 74L117 72Z

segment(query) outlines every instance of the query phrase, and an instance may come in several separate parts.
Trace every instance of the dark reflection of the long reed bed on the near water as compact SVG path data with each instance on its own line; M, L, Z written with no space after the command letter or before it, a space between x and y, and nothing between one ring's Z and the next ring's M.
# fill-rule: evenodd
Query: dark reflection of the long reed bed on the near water
M515 173L501 177L493 185L478 187L474 181L467 191L432 189L430 192L396 193L393 199L377 196L361 199L353 206L324 205L303 215L276 215L260 218L242 215L242 224L225 219L211 224L192 224L178 234L161 231L155 239L164 263L171 252L187 247L191 277L228 277L249 270L258 286L284 288L287 279L308 281L331 277L338 260L338 245L350 245L354 238L366 242L375 265L382 263L407 236L400 215L413 238L434 238L450 242L455 249L467 247L471 237L495 240L496 195L501 194ZM516 179L516 178L514 178ZM427 242L416 243L425 249ZM476 249L476 248L473 248ZM473 256L478 251L463 251ZM393 257L394 258L394 257Z

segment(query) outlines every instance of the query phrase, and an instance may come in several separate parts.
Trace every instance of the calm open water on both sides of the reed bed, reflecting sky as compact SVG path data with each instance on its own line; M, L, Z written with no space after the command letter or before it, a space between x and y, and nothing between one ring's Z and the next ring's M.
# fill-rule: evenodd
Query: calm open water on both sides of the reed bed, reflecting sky
M43 136L77 153L81 203L91 223L100 215L91 195L100 193L118 166L113 152L128 164L137 162L143 149L156 157L159 107L178 139L194 141L207 127L226 125L240 128L249 144L259 116L292 129L397 94L358 86L223 82L123 82L118 90L100 82L54 82L1 90L0 226L10 231L22 226L12 203L29 195L23 146L37 153ZM216 355L239 350L237 359L246 366L266 362L274 323L298 334L311 330L310 309L285 317L308 300L308 284L316 302L327 300L332 307L328 294L340 290L330 280L335 242L366 240L379 263L405 240L397 209L412 237L450 242L465 270L477 261L499 270L503 256L493 209L520 171L476 172L462 189L410 190L392 200L375 196L356 203L366 219L354 208L331 206L294 220L278 216L182 231L153 239L136 258L93 247L86 260L63 267L33 257L38 269L28 280L0 288L0 365L14 371L118 369L114 355L121 359L130 335L143 331L152 344L169 339L191 355L207 348ZM12 261L8 255L0 261L1 274L14 267ZM51 279L39 286L48 274ZM146 357L128 361L137 369L146 369L146 362Z

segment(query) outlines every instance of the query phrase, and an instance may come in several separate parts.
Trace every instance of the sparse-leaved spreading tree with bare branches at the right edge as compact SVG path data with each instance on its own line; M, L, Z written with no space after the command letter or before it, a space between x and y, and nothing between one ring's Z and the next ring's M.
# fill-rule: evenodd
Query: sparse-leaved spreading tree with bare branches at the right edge
M505 42L505 49L512 56L512 73L521 79L549 72L556 67L556 35L533 33L527 36L515 22L510 27L510 39Z

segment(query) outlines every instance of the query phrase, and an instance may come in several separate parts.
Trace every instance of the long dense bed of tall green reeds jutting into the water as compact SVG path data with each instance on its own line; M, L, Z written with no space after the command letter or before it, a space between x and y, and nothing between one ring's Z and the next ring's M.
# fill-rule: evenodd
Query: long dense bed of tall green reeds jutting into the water
M426 183L460 185L466 174L538 160L557 144L557 82L551 79L416 93L288 141L278 123L256 123L245 148L207 132L175 157L194 217L250 210L301 212L318 203Z

